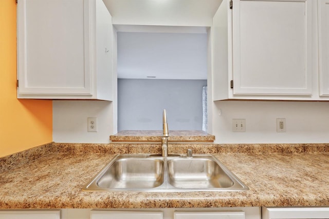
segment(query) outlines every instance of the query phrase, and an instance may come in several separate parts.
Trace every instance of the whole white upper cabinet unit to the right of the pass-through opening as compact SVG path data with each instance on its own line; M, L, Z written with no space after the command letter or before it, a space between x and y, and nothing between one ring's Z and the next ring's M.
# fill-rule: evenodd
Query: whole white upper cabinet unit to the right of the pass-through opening
M223 0L210 37L213 101L329 100L329 0L318 1Z

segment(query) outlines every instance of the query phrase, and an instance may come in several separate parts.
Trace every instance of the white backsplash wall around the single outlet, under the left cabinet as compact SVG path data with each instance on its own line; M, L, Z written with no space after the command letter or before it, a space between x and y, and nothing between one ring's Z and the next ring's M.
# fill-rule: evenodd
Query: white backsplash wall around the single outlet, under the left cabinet
M98 132L87 132L87 117L97 117ZM63 143L109 143L115 134L113 102L53 101L52 139Z

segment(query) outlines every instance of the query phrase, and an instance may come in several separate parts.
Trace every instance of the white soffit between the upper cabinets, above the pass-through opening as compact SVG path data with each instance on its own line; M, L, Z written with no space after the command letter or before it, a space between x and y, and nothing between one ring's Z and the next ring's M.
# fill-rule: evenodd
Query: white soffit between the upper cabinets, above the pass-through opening
M103 0L113 24L205 26L222 0Z

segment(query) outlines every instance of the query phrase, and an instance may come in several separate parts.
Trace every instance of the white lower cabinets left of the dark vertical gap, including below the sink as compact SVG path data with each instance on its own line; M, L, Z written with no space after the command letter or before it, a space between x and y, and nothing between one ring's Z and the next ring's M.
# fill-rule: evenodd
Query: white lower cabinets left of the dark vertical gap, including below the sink
M261 219L260 207L0 210L0 219ZM329 217L328 217L329 218Z

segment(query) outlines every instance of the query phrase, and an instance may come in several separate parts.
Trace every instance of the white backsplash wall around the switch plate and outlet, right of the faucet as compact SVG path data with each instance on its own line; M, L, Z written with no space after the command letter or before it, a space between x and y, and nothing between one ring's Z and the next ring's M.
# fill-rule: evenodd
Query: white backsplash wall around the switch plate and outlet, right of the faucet
M216 143L329 142L328 102L217 101L212 110ZM232 132L232 118L245 118L246 132ZM286 132L277 132L276 118L286 119Z

